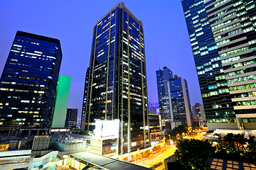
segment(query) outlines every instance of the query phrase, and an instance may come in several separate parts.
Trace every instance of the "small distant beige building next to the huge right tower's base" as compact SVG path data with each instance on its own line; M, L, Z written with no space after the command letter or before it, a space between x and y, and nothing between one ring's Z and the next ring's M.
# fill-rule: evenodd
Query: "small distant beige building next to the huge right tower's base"
M200 103L196 103L192 106L193 126L203 127L206 126L206 115L204 108Z

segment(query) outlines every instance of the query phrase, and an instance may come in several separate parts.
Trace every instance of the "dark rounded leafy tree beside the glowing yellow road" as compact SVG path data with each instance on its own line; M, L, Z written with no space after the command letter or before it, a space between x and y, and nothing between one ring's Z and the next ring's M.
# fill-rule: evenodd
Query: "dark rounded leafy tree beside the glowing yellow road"
M210 169L208 160L211 153L215 151L215 147L211 147L210 143L186 139L178 140L176 147L175 156L178 163L182 164L185 169Z

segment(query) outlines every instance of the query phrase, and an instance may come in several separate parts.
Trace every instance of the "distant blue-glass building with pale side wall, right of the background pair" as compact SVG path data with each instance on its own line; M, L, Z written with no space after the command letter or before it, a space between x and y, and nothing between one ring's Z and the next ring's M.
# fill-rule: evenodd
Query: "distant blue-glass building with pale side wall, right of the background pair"
M171 129L178 125L191 126L191 103L186 79L174 76L167 83L171 111Z

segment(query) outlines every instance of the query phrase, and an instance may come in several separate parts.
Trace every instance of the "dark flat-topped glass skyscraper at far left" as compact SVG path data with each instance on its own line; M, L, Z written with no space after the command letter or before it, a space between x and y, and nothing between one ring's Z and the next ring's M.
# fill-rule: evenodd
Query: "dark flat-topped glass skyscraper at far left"
M62 53L60 41L18 31L0 82L0 130L49 128Z

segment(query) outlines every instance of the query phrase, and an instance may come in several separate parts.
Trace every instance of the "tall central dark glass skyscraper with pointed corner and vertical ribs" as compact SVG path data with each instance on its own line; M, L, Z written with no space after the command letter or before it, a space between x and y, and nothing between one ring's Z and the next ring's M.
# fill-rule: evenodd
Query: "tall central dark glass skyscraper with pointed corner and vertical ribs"
M95 25L82 107L82 129L118 119L119 154L149 146L144 33L119 3Z

